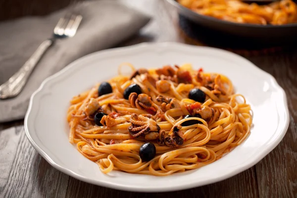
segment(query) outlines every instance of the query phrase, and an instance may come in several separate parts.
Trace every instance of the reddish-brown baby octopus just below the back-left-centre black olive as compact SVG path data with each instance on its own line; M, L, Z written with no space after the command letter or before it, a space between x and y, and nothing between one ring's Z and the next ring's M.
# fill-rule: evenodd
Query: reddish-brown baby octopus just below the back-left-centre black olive
M129 96L129 101L132 107L138 109L147 110L150 114L155 114L156 109L152 107L153 102L147 94L140 94L137 96L136 93L131 93Z

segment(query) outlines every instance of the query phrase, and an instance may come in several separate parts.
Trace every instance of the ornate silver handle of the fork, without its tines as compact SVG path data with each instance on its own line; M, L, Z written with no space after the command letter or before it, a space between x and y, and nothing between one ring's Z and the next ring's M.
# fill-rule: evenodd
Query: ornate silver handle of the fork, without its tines
M44 41L25 64L8 81L0 86L1 99L15 97L23 90L33 69L53 42L53 39Z

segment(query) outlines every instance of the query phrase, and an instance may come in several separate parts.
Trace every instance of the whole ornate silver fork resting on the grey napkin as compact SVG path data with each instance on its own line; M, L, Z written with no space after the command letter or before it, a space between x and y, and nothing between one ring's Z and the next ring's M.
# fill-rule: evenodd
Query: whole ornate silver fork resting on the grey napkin
M0 99L16 97L23 90L30 74L47 49L54 44L56 39L73 37L82 18L81 15L76 14L67 14L65 17L60 18L53 29L52 37L44 41L25 64L0 86Z

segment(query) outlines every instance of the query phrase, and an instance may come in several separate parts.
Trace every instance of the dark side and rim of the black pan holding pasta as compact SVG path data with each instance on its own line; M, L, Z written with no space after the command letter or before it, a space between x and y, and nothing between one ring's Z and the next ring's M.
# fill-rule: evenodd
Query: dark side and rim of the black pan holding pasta
M205 27L220 34L242 38L246 42L257 44L269 44L273 46L288 45L297 42L297 23L285 25L255 25L233 23L223 21L214 17L198 14L184 7L176 0L167 0L174 5L181 17L196 23L198 27ZM215 35L215 34L214 34Z

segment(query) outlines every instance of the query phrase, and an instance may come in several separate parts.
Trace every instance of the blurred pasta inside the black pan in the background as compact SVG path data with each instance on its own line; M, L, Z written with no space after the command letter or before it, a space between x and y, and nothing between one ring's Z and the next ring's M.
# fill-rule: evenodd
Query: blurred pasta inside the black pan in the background
M241 0L178 0L199 14L236 23L283 25L297 22L297 5L292 0L275 1L267 5Z

